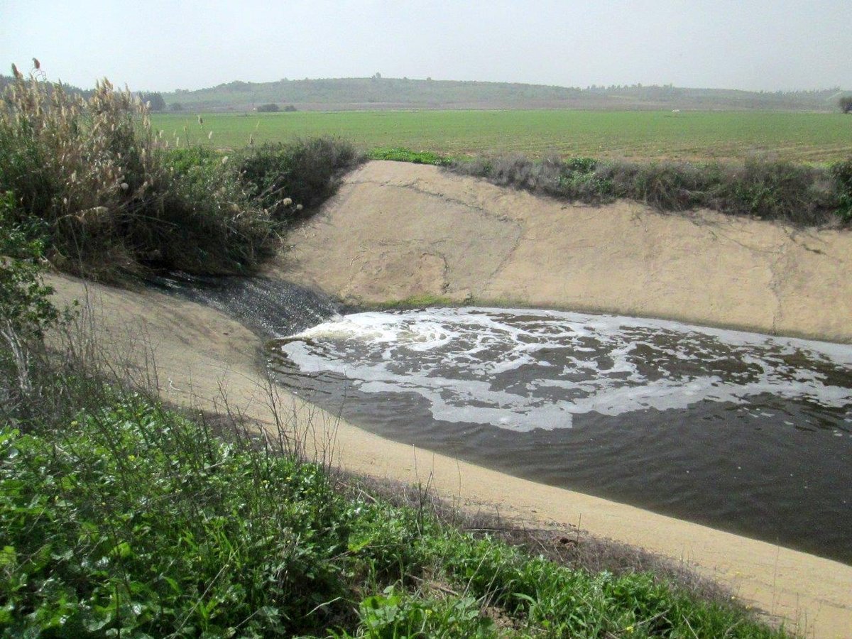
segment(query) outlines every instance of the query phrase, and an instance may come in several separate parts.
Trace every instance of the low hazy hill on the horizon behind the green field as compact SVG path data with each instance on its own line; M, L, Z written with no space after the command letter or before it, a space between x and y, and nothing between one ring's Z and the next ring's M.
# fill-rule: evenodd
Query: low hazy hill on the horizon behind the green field
M178 89L163 95L168 107L193 111L250 111L259 105L293 105L308 111L376 109L699 109L820 111L838 109L838 88L755 92L665 86L545 86L540 84L329 78L251 83L230 82L210 89Z

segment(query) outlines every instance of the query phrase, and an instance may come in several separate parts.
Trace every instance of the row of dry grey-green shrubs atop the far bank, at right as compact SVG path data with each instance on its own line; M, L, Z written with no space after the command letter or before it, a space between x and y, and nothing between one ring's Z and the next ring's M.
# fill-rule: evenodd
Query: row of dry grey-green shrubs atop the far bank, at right
M829 168L786 161L636 164L591 158L475 158L450 170L590 204L625 198L658 210L708 208L799 226L852 222L852 159Z

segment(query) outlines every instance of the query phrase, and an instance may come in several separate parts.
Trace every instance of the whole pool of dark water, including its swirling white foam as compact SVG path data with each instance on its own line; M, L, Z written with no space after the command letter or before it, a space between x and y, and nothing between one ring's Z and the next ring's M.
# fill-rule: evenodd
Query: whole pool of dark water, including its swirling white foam
M852 347L461 308L338 317L270 359L394 440L852 563Z

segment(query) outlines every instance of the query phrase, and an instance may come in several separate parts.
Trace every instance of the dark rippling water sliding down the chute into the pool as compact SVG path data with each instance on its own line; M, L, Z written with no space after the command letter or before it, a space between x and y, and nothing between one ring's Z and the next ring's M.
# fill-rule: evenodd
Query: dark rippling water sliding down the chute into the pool
M281 279L169 273L151 283L172 295L216 308L262 337L285 337L339 315L330 297Z

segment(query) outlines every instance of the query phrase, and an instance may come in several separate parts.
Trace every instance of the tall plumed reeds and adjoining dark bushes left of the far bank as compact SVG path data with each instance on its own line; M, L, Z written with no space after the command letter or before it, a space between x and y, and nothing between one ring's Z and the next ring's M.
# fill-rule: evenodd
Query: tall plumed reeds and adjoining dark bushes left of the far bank
M272 254L281 224L320 204L356 160L337 140L232 158L175 152L154 135L147 107L107 81L86 99L18 74L0 101L11 219L40 222L49 261L91 279L248 271Z

